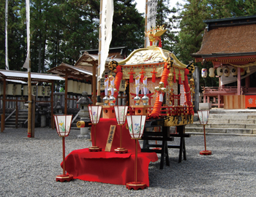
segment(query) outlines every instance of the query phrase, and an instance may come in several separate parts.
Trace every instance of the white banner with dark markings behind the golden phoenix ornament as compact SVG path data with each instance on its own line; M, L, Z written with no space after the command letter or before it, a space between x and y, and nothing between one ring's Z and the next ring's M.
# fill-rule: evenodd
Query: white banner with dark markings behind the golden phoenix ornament
M147 31L152 27L156 26L157 18L157 0L148 1L148 14L147 14ZM148 37L146 37L146 47L150 45Z

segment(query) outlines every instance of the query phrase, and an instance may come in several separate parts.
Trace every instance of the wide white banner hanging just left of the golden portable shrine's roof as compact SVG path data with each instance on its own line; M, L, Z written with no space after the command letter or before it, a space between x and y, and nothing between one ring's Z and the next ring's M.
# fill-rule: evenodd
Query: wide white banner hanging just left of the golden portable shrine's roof
M101 23L101 51L98 80L105 71L105 61L108 58L108 50L112 39L114 4L113 0L102 0L102 23Z

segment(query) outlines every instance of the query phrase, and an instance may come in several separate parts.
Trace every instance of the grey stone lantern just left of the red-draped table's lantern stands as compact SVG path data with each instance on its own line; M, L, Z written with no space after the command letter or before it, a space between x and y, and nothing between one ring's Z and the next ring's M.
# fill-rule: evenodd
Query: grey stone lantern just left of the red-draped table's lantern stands
M92 101L88 97L88 93L86 91L83 91L82 97L78 100L77 104L80 104L80 111L78 112L78 115L80 116L80 123L83 123L83 126L80 126L80 135L78 135L78 138L90 139L89 123L91 123L91 120L89 117L88 106L89 104L92 104Z

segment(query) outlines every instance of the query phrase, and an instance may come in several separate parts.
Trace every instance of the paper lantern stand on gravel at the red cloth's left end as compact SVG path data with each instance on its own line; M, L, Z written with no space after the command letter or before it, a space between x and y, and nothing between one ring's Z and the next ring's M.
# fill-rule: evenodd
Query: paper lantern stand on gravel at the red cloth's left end
M64 182L73 179L72 174L66 174L65 166L65 136L69 136L72 115L54 115L56 130L59 136L62 137L62 152L63 152L63 174L56 176L56 181Z

